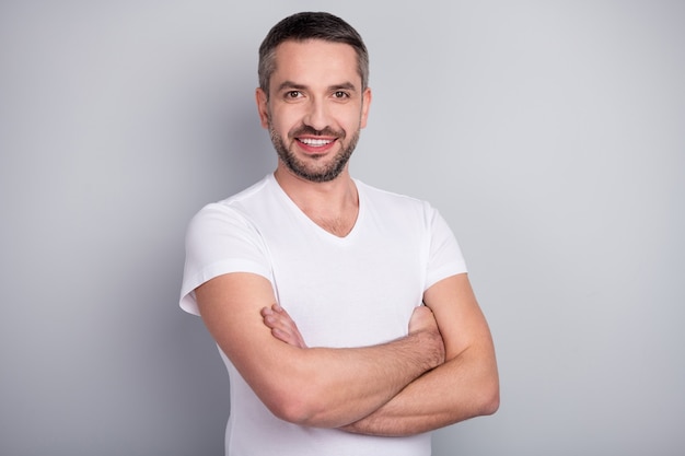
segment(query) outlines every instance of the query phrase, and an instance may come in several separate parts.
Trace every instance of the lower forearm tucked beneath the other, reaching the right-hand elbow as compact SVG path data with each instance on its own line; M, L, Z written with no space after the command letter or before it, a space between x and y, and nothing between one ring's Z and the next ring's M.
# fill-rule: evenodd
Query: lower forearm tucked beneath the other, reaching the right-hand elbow
M426 373L368 417L341 429L371 435L411 435L491 414L498 406L494 358L473 349Z

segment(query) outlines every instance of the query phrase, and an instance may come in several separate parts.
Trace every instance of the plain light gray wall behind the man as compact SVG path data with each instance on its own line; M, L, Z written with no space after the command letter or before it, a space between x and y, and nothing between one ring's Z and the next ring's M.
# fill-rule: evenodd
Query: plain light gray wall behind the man
M491 324L501 409L434 454L685 453L685 2L654 0L0 2L0 453L222 453L183 237L274 168L256 49L301 10L365 37L352 172L441 210Z

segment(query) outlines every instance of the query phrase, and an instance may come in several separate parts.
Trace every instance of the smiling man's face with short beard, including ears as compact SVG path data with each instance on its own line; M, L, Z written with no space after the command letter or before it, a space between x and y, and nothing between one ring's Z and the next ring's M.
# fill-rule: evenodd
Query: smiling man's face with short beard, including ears
M267 97L257 89L257 107L279 168L315 183L346 171L371 102L371 91L361 89L355 49L315 39L282 43L269 92Z

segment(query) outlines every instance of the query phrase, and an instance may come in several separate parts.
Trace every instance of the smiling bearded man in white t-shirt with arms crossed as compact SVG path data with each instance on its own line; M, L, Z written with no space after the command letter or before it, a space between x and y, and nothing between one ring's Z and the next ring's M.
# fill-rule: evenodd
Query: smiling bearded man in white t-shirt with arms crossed
M256 101L277 168L188 227L181 305L229 370L228 455L429 455L429 431L498 408L491 337L444 220L350 177L368 74L342 20L275 25Z

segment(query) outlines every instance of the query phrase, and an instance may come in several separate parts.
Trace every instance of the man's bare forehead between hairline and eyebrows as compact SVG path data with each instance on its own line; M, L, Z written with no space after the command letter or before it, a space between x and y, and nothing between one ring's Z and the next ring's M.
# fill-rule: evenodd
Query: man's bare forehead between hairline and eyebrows
M292 81L307 86L351 83L361 86L357 52L345 43L288 40L276 48L272 84Z

